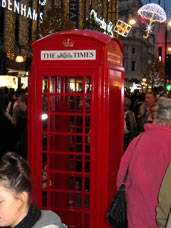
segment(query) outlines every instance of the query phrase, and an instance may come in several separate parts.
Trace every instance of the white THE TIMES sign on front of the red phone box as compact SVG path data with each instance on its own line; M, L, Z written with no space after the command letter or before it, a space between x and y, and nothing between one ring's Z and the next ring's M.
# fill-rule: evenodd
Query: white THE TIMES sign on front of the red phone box
M96 60L96 50L41 51L41 60Z

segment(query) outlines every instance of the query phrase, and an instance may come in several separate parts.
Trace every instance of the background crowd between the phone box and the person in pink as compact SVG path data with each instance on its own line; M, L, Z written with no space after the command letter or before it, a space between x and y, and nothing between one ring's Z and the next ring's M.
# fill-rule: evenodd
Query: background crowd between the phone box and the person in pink
M132 139L144 131L145 123L152 123L157 118L158 102L169 95L161 92L125 93L124 102L124 151Z

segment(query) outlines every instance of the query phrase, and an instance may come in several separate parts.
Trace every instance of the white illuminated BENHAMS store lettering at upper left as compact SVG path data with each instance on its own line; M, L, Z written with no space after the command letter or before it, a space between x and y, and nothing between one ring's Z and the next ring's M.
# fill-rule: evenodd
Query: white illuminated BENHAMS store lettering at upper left
M1 0L1 7L7 8L14 13L18 13L24 17L27 17L31 20L37 21L38 13L37 10L28 7L20 1L16 0ZM44 6L46 5L46 0L39 0L39 4ZM43 22L43 12L39 13L40 22Z

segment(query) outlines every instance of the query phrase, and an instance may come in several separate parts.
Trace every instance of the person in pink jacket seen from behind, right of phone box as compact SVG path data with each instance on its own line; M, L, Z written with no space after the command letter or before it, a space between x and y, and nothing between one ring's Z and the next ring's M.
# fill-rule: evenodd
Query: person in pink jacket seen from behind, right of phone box
M161 98L158 118L128 146L120 163L117 187L126 181L128 228L157 228L156 206L165 171L171 161L171 99Z

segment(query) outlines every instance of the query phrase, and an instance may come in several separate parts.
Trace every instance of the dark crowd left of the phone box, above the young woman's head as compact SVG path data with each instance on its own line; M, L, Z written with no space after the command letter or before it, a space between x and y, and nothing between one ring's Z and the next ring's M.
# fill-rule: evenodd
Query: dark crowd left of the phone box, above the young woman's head
M27 91L0 87L0 156L16 151L27 159Z

